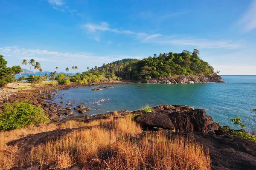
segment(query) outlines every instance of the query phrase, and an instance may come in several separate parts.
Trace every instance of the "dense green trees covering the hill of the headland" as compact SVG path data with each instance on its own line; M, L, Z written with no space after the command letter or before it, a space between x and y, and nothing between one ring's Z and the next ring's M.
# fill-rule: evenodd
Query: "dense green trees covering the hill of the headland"
M182 53L154 54L154 57L138 59L123 59L97 68L98 71L106 72L108 75L115 75L122 79L156 79L180 75L210 75L215 74L208 62L198 57L199 51L194 49L182 51ZM90 72L95 72L91 69Z

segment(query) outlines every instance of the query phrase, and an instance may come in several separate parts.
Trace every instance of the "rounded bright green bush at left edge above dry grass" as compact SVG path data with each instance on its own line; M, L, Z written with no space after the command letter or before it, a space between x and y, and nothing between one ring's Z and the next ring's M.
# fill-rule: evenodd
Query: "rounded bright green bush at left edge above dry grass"
M26 102L5 103L5 109L0 113L0 130L10 130L31 124L48 123L42 108L37 108Z

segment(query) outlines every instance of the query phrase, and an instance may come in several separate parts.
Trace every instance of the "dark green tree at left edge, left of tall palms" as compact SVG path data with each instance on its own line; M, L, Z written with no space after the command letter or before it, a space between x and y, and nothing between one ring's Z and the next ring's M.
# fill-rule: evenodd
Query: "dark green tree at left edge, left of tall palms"
M7 67L7 61L0 55L0 87L7 85L10 82L15 82L15 74L22 72L20 66Z

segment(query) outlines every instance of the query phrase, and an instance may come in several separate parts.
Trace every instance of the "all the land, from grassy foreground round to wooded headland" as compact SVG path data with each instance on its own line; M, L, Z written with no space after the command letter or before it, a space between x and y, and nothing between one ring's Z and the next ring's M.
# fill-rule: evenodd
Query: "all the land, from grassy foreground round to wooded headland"
M240 129L231 129L214 122L203 109L185 105L145 105L138 111L90 115L92 107L84 102L78 101L78 105L63 101L64 108L55 102L56 98L64 100L65 96L57 93L59 90L81 86L223 82L217 75L219 71L214 72L198 55L199 51L194 49L192 53L185 50L154 54L141 60L122 59L74 75L69 74L70 68L66 68L66 74L58 74L58 67L54 72L42 74L39 62L24 59L22 65L30 66L31 75L18 79L15 74L23 73L23 68L7 67L0 55L0 86L18 84L15 91L7 89L1 94L0 167L3 170L253 169L256 137L239 117L230 121ZM29 87L23 88L23 84ZM97 89L103 88L112 86ZM73 116L75 112L79 116ZM66 117L60 119L63 115Z

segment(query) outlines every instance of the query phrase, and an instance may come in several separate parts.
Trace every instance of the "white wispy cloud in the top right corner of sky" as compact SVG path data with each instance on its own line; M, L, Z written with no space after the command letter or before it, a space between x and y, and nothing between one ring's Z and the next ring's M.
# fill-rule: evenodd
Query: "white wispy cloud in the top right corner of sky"
M243 32L249 32L256 28L256 0L250 3L248 9L237 22Z

